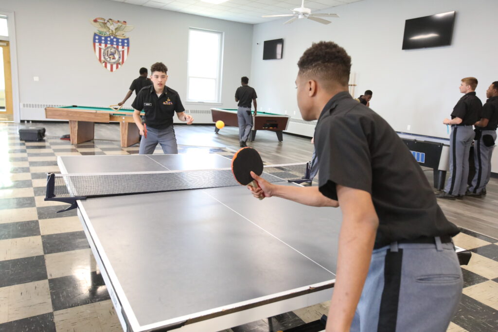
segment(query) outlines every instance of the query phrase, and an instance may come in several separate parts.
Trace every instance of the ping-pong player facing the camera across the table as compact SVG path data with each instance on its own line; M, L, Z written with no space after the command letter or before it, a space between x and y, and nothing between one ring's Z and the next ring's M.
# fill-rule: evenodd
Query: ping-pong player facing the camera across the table
M150 67L150 80L153 85L142 88L131 106L133 120L135 120L142 139L140 140L139 154L153 154L157 143L161 144L165 154L178 153L175 131L173 130L173 115L180 121L191 124L194 118L185 114L180 96L173 89L166 86L168 68L162 62L156 62ZM144 137L140 111L145 112L147 137Z

